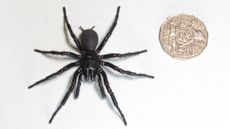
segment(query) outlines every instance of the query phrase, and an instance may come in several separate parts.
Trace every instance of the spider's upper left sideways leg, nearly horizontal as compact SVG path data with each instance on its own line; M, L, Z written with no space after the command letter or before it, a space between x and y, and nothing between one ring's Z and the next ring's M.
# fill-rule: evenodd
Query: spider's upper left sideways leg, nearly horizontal
M35 52L42 53L42 54L52 54L52 55L60 55L60 56L69 56L76 59L80 59L80 55L77 55L72 52L66 52L66 51L44 51L44 50L38 50L34 49Z

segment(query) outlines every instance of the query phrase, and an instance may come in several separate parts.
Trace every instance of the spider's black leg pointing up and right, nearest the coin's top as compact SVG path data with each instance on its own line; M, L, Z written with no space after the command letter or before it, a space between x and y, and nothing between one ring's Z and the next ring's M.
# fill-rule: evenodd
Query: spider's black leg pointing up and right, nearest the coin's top
M117 20L118 20L119 12L120 12L120 6L117 7L117 13L116 13L115 19L113 21L113 24L112 24L109 32L107 33L107 35L102 40L101 44L98 46L98 48L96 50L96 53L99 53L102 50L102 48L105 46L106 42L109 40L109 37L112 35L113 30L114 30L114 28L117 25Z

